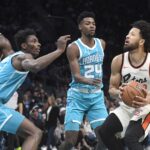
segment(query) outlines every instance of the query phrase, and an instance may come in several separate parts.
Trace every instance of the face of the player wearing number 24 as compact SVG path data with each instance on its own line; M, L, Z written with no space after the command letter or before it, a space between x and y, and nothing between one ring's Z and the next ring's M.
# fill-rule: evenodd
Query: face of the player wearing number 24
M93 37L96 30L95 20L91 17L84 18L79 25L79 29L85 36Z

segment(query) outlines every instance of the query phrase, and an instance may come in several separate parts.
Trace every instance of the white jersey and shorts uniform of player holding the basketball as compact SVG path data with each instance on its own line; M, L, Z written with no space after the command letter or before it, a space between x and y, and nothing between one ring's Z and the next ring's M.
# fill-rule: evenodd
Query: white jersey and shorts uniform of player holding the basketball
M122 75L122 83L128 83L131 80L135 80L145 85L148 91L150 90L150 53L147 53L145 60L138 67L132 65L129 58L129 52L124 53L122 68L120 71ZM137 121L139 119L142 119L143 123L145 117L149 114L149 112L150 104L140 108L133 108L129 107L121 101L120 107L111 112L115 113L123 126L123 131L117 133L116 135L123 138L127 126L129 125L129 121ZM143 137L141 137L140 141L142 141L148 135L149 131L150 125L145 129L145 134Z

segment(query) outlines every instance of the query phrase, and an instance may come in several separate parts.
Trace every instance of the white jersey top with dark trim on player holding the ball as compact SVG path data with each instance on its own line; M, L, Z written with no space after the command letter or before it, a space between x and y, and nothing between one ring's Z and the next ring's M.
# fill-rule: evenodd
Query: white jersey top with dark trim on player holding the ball
M150 53L147 53L145 60L141 65L135 67L132 65L129 52L124 53L121 68L122 83L128 83L131 80L142 83L146 89L150 90Z

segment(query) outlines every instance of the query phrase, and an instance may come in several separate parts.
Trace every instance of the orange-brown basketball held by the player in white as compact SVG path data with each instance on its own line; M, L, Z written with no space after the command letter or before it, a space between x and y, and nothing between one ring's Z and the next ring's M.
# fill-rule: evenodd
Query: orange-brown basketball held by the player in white
M129 82L124 87L124 90L121 95L123 102L126 105L132 107L132 101L134 100L135 96L140 96L145 98L146 94L142 92L142 88L144 88L144 86L141 83L138 83L136 81Z

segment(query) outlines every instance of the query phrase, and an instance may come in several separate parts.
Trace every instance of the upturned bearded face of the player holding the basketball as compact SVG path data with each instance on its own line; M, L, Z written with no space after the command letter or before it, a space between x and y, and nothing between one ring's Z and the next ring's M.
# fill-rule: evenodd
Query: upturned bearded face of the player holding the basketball
M124 50L132 51L138 49L141 39L140 30L138 28L132 28L126 36Z

